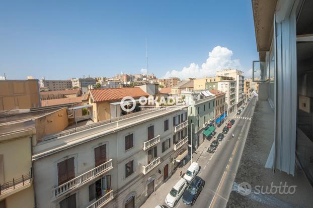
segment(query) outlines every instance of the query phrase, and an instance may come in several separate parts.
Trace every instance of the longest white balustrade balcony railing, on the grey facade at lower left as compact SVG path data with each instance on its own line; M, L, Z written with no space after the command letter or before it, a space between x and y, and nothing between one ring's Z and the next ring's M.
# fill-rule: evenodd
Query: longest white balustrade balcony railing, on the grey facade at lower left
M112 159L110 159L109 161L95 167L94 169L83 173L55 188L52 189L53 192L53 199L56 199L58 197L60 197L61 195L75 190L77 187L80 187L86 183L88 183L90 180L92 180L93 178L96 178L100 175L103 175L104 173L108 172L109 170L111 170L113 168L112 165Z

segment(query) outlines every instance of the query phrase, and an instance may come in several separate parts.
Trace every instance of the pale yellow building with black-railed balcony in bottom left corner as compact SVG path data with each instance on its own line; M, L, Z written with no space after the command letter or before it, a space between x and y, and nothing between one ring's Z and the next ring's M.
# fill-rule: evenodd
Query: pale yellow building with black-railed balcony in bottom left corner
M0 134L0 207L34 207L34 136L35 128Z

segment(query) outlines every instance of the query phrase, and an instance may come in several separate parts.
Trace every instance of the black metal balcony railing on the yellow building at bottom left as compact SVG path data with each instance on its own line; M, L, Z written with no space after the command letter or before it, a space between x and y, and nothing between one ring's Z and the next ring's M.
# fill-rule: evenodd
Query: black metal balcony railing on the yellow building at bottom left
M0 195L6 194L10 191L23 187L24 185L31 183L32 179L33 172L31 168L28 174L22 175L22 177L20 178L13 178L11 181L0 184Z

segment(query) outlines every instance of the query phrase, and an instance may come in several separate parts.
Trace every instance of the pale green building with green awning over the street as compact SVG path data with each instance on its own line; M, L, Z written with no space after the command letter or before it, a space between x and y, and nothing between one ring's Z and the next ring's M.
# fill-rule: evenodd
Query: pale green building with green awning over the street
M211 139L214 127L215 95L208 90L182 91L188 102L188 132L192 147L197 149L205 139Z

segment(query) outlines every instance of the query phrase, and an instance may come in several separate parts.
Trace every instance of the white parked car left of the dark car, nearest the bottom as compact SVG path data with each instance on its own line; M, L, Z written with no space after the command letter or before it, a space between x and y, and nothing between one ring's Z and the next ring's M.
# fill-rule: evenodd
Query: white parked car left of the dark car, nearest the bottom
M174 207L179 201L180 197L183 195L186 187L186 180L184 178L181 178L166 196L165 203L170 207Z

